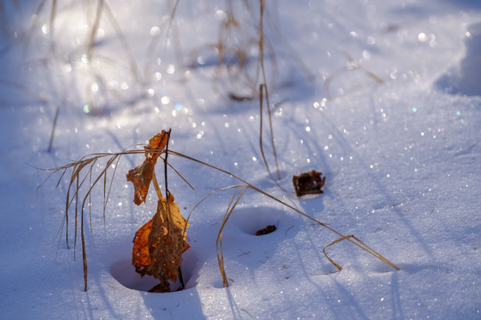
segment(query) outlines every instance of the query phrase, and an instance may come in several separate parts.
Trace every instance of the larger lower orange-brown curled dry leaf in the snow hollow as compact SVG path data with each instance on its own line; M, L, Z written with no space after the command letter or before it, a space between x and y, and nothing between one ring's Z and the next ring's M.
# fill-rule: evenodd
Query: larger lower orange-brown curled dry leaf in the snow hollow
M182 253L190 248L187 244L185 220L174 203L174 196L161 198L152 220L140 228L134 237L132 264L141 276L158 278L160 291L170 292L168 280L175 282L179 276Z

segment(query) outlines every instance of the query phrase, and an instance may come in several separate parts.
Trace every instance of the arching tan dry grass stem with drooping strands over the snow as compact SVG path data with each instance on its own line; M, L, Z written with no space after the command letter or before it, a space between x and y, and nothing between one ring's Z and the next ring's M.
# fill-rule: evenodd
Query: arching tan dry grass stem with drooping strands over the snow
M262 189L253 186L248 181L240 179L240 177L232 174L232 172L225 171L224 169L219 168L215 165L205 163L205 162L200 161L200 160L198 160L198 159L196 159L192 156L183 155L182 153L178 153L174 150L166 150L166 149L159 150L159 149L148 149L148 148L146 148L145 150L142 150L142 149L135 149L135 150L126 149L126 150L124 150L122 152L118 152L118 153L99 153L99 154L92 154L92 155L89 155L89 156L84 156L82 159L80 159L76 162L73 162L71 164L66 164L66 165L63 165L61 167L53 168L53 169L49 170L49 171L53 171L53 172L47 177L47 179L50 178L53 175L53 173L61 172L61 177L58 180L57 187L61 184L61 181L63 180L63 177L66 174L66 172L68 172L69 170L71 170L71 172L72 172L71 175L69 176L69 188L68 188L67 196L66 196L66 209L65 209L65 215L64 215L63 223L65 224L65 227L66 227L66 241L67 241L67 244L68 244L68 241L69 241L69 236L68 236L69 209L71 208L72 205L74 205L74 209L75 209L74 250L77 246L77 225L78 225L78 215L80 215L80 219L79 219L79 221L80 221L80 238L81 238L81 244L82 244L82 260L83 260L83 264L84 264L84 282L85 282L85 288L84 289L85 290L87 289L87 258L86 258L86 242L85 242L85 227L84 227L84 225L85 225L85 207L86 207L87 201L90 202L89 199L90 199L90 196L91 196L91 194L94 190L94 187L98 184L98 182L100 180L102 180L103 181L103 183L102 183L103 184L103 214L105 216L105 206L106 206L106 204L108 202L108 199L109 199L110 188L111 188L111 184L112 184L112 181L113 181L113 176L115 175L115 172L116 172L116 169L113 169L110 184L108 184L107 183L107 180L108 180L108 173L107 172L108 172L109 168L111 167L112 164L118 164L118 161L120 160L121 156L136 155L136 154L144 155L146 152L149 152L151 154L156 154L158 156L165 155L164 160L166 161L166 163L167 163L167 155L168 156L179 156L179 157L182 157L184 159L190 160L192 162L207 166L208 168L214 169L218 172L223 172L224 174L227 174L228 176L231 176L234 179L240 181L240 183L241 183L240 185L221 188L219 190L214 191L212 194L208 195L208 196L212 196L214 193L222 191L222 190L226 190L226 189L231 189L231 188L237 188L238 189L234 192L234 194L231 197L231 200L229 201L229 204L227 205L227 209L226 209L226 212L224 214L224 219L222 221L221 227L219 228L217 238L216 238L217 260L218 260L218 263L219 263L219 268L220 268L221 276L223 278L224 286L228 286L229 284L228 284L228 280L227 280L228 278L227 278L227 276L225 274L225 270L224 270L224 255L223 255L223 245L222 245L223 230L224 230L224 226L225 226L227 220L229 220L229 218L232 216L233 210L235 209L236 205L239 203L240 198L242 196L244 196L245 192L248 189L252 189L252 190L254 190L254 191L256 191L256 192L258 192L258 193L260 193L264 196L267 196L268 198L272 199L273 201L289 208L290 210L292 210L294 212L298 212L299 214L306 217L307 219L313 220L316 224L322 226L323 228L326 228L326 229L330 230L330 232L337 235L338 238L336 240L334 240L333 242L331 242L330 244L326 245L323 248L322 251L323 251L324 255L326 256L326 258L328 260L330 260L330 262L336 268L338 268L338 270L341 270L342 268L340 267L340 265L338 265L337 262L335 262L334 260L332 260L328 256L328 254L326 252L326 249L328 247L330 247L331 245L337 244L338 242L343 241L343 240L346 240L346 241L350 242L351 244L355 244L359 248L363 249L363 251L368 252L371 255L373 255L374 257L378 258L379 260L382 260L383 262L387 263L387 265L389 265L390 267L395 268L396 270L399 270L399 268L397 266L395 266L395 264L393 264L391 261L384 258L382 255L379 254L379 252L374 251L367 244L364 244L363 241L361 241L356 236L353 236L353 235L345 236L345 235L341 234L340 232L338 232L334 228L330 228L328 225L322 223L321 221L315 220L313 217L309 216L305 212L302 212L302 211L298 210L297 208L293 207L292 205L281 201L279 198L277 198L275 196L272 196L269 193L263 191ZM94 164L97 164L97 162L102 158L107 158L105 166L102 169L102 171L98 174L98 176L95 178L95 180L92 181ZM170 164L168 164L168 163L167 163L167 165L170 166ZM117 167L118 167L118 165L115 165L115 168L117 168ZM176 173L178 173L178 172L176 172ZM83 196L83 199L81 200L81 204L80 204L80 201L79 201L80 189L84 186L87 178L89 178L89 183L86 186L86 193ZM183 179L183 177L182 177L182 179ZM73 195L72 195L72 193L73 193ZM204 197L202 200L200 200L200 202L202 202L208 196ZM200 203L196 204L194 206L194 208L192 209L192 211L199 204ZM90 206L89 206L89 208L90 208ZM78 209L80 210L80 212L78 212ZM90 225L90 228L92 230L92 225Z

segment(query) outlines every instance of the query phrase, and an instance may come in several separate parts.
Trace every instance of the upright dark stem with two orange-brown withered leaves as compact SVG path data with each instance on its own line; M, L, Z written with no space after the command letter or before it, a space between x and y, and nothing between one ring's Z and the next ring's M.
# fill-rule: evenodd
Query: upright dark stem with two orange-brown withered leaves
M160 284L152 288L154 292L170 292L169 281L175 282L178 277L181 279L181 288L183 288L180 273L182 254L190 247L187 244L188 239L185 232L189 223L183 218L179 206L174 202L174 196L167 187L169 139L170 130L162 131L152 137L149 145L144 147L146 152L143 164L129 170L126 174L127 181L134 184L135 204L139 205L145 202L151 183L159 196L157 212L135 233L132 252L132 264L135 266L135 271L141 276L149 275L159 279ZM165 198L162 196L155 176L154 167L159 154L151 152L152 149L164 150Z

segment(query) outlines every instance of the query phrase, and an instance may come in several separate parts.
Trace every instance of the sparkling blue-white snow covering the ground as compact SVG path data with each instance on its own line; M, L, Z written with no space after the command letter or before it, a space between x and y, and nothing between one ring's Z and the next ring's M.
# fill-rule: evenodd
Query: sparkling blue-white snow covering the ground
M262 81L251 42L257 2L105 2L90 53L96 3L57 3L54 19L49 2L4 2L1 13L2 318L481 317L477 1L266 2L265 71L280 180L262 160L257 95L229 98L252 94ZM233 73L235 52L227 52L230 75L216 69L213 44L228 12L239 24L226 29L224 44L245 50L248 74ZM146 292L155 282L131 266L132 238L151 219L155 195L133 204L124 174L143 160L131 155L118 164L105 222L102 186L92 196L84 292L73 215L70 249L62 228L69 181L55 188L57 174L42 184L49 172L38 168L136 148L168 128L171 149L355 235L401 270L342 241L326 249L343 267L334 272L322 249L336 234L248 190L224 228L224 288L216 236L236 189L192 208L240 181L169 156L195 188L169 172L181 211L192 212L186 289ZM310 170L326 176L324 193L298 199L292 176ZM254 236L267 225L277 229Z

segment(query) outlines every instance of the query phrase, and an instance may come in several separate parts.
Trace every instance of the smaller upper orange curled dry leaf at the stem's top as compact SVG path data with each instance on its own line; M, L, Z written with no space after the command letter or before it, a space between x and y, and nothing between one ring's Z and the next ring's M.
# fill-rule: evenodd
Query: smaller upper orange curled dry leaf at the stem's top
M151 185L154 166L157 163L157 158L160 156L160 151L166 148L167 140L168 133L165 130L153 136L149 140L149 145L144 147L145 160L143 164L137 165L126 174L127 181L134 184L134 203L137 205L145 202L149 186Z

